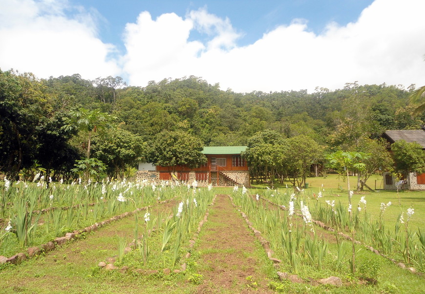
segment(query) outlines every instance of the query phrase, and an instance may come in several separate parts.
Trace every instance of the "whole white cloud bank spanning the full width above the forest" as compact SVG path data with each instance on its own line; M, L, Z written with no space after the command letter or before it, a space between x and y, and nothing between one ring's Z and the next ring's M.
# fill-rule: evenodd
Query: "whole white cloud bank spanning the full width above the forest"
M237 45L242 34L231 20L206 8L155 20L142 12L126 25L120 60L98 36L96 11L67 0L0 0L0 7L1 69L39 77L121 75L145 86L195 75L237 92L425 84L423 0L376 0L357 21L331 22L321 34L294 20L247 46Z

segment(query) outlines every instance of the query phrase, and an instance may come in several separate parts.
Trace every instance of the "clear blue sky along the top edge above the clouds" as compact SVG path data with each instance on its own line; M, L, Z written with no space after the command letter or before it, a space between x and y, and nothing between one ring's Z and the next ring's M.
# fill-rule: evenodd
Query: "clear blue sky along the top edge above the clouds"
M356 21L361 11L372 0L79 0L74 1L86 8L96 9L104 18L100 21L100 37L125 50L121 35L127 22L135 21L142 11L149 11L153 19L164 13L184 16L190 10L206 7L209 13L221 18L229 18L232 25L243 36L238 45L248 45L278 25L290 24L294 19L308 21L308 29L320 33L326 25L335 21L340 25ZM205 38L196 31L189 40Z

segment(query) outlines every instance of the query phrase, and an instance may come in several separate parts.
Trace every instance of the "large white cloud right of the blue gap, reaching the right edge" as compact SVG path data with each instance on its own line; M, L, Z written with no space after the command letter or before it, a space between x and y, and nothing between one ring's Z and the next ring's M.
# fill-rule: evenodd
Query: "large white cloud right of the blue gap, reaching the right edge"
M356 22L329 23L316 35L306 21L294 20L244 47L236 46L240 35L228 19L205 9L155 21L144 12L127 25L125 69L131 84L195 75L238 92L335 89L354 81L421 85L424 8L422 0L376 0ZM209 41L189 42L191 30Z

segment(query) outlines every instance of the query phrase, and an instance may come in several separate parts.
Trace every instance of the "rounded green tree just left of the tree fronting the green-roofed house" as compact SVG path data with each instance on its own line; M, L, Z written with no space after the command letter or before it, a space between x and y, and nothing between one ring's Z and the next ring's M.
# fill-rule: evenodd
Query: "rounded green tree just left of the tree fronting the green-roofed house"
M94 156L107 165L109 177L124 176L127 166L134 166L142 156L144 142L142 138L121 129L111 128L93 138Z

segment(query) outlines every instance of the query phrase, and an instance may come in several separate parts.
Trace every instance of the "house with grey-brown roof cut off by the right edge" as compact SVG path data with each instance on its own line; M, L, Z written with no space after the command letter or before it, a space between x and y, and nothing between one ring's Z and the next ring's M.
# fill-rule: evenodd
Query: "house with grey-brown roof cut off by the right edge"
M383 138L390 144L399 140L404 140L407 143L416 142L425 151L424 129L387 130L383 133ZM417 174L416 172L410 172L404 175L404 179L398 180L394 174L383 172L383 189L396 190L398 185L401 189L424 190L425 173Z

